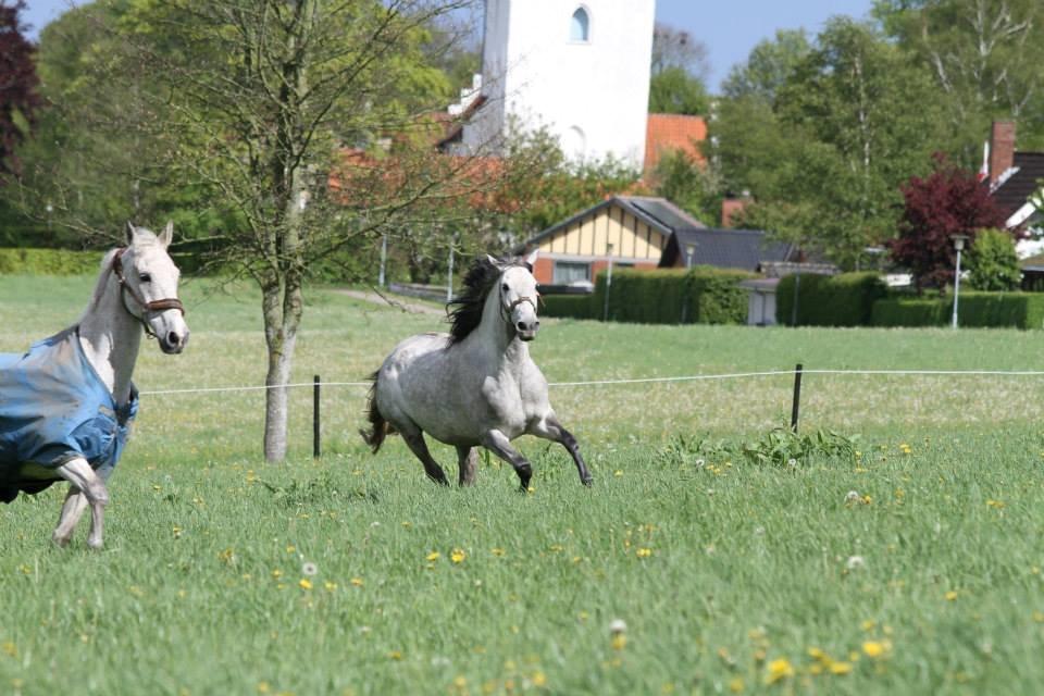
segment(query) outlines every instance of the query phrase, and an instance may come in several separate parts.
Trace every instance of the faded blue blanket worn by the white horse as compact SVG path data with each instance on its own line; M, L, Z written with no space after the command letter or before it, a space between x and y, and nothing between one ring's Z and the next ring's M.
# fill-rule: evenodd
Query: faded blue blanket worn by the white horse
M76 457L112 469L138 412L138 394L117 406L87 361L76 326L33 344L25 355L0 353L0 501L35 494L61 477L26 475L22 465L57 469Z

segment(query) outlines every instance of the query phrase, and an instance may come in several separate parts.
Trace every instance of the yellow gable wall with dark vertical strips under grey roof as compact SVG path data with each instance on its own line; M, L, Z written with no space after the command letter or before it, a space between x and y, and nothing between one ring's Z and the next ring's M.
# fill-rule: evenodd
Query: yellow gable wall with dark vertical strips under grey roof
M577 257L612 256L659 261L667 238L616 206L587 215L540 240L540 251Z

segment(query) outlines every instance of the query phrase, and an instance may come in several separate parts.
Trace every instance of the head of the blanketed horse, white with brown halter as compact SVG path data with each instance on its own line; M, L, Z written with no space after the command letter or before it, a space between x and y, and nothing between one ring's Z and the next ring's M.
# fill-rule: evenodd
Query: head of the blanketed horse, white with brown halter
M177 298L181 272L166 252L174 223L159 235L127 223L127 246L116 251L112 271L121 285L123 306L156 336L165 353L178 353L188 343L185 309Z

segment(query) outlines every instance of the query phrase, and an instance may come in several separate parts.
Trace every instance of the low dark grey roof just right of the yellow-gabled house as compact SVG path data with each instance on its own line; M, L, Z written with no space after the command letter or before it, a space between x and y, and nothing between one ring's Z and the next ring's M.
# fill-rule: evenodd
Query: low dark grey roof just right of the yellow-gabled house
M678 229L660 257L660 266L673 266L682 249L695 245L693 265L757 271L762 262L786 261L794 246L766 239L760 229Z

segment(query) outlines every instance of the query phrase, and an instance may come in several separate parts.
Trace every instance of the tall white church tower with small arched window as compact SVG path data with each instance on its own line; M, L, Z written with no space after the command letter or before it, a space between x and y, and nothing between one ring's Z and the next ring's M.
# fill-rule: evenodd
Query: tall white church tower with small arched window
M476 149L546 127L573 160L642 167L656 0L486 0Z

